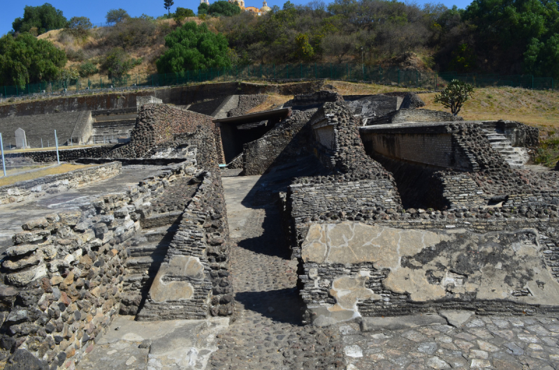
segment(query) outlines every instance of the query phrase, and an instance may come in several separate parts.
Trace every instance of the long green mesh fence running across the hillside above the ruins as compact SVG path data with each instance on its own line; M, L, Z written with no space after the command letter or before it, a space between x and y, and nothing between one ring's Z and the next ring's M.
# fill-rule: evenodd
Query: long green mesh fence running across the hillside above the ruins
M478 75L433 73L414 69L382 68L362 64L261 64L232 66L206 70L166 73L159 75L126 75L119 79L108 77L81 78L0 87L2 96L24 96L52 92L107 89L110 87L164 87L200 82L227 82L246 80L343 80L392 84L400 87L438 89L453 80L462 80L474 87L523 87L526 89L554 89L553 78L532 75Z

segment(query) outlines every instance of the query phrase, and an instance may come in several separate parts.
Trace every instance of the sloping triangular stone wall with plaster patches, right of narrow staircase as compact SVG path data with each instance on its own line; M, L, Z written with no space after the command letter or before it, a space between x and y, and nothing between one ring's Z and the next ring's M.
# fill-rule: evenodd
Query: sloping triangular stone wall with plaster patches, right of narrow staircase
M219 170L203 172L196 195L147 295L139 320L233 314L231 246Z

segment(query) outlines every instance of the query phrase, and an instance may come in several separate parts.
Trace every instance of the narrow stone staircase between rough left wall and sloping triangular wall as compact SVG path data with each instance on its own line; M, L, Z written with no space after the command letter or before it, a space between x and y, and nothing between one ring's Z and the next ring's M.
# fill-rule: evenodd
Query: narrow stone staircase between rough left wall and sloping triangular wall
M134 237L124 264L124 292L120 313L136 315L163 262L177 224L144 229Z

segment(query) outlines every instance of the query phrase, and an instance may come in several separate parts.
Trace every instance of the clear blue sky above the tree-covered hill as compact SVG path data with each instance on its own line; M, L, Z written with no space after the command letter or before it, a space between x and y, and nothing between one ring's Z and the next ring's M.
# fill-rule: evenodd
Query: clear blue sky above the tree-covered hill
M42 5L45 2L49 2L55 8L62 10L64 16L68 19L74 16L86 16L94 24L99 24L105 20L105 15L109 9L114 8L123 8L125 9L131 16L135 17L138 15L142 15L145 13L147 15L152 15L157 17L158 15L162 15L165 13L165 9L163 8L163 0L95 0L95 1L76 1L76 0L23 0L23 1L13 1L13 0L1 0L2 11L0 12L0 35L6 34L6 32L12 29L12 22L17 17L23 16L23 8L26 5L29 6L38 6ZM281 7L286 0L269 0L268 6L277 5ZM210 0L212 3L213 0ZM297 4L304 4L308 3L308 0L291 0L292 3ZM328 2L328 1L325 1ZM426 3L430 1L425 0L418 0L418 3ZM437 1L432 1L437 2ZM444 0L440 1L444 3L444 5L451 8L453 5L458 6L458 8L465 8L470 1L465 0L456 0L456 1L449 1ZM181 6L182 8L190 8L196 12L198 8L198 4L200 1L196 0L175 0L175 5L171 8L171 11L174 11L177 6ZM245 0L246 6L256 6L260 8L262 6L261 0Z

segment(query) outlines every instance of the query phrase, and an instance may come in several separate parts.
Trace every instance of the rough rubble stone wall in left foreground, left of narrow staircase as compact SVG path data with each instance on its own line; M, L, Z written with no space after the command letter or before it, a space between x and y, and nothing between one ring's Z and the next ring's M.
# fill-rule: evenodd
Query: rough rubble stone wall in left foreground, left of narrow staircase
M191 162L172 165L126 193L22 225L0 276L2 356L20 348L56 369L91 350L119 312L126 247L150 201L195 170Z

